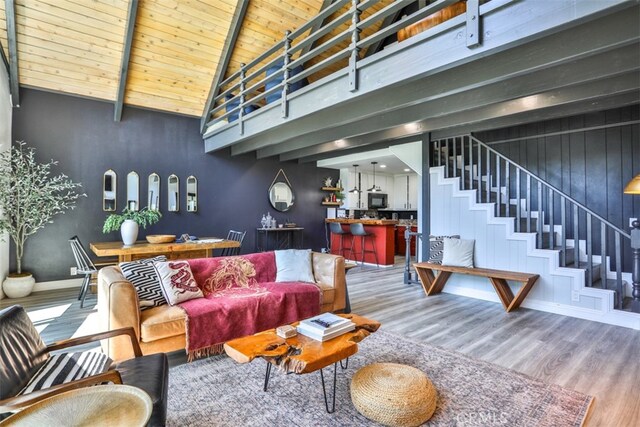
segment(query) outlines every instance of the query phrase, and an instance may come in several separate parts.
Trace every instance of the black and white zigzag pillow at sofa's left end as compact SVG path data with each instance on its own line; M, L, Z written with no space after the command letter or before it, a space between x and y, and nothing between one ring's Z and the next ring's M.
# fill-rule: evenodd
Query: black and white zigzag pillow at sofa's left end
M120 263L122 274L136 288L138 300L140 300L140 310L167 303L167 299L162 293L160 274L154 265L156 262L165 262L166 260L166 256L160 255L154 258Z

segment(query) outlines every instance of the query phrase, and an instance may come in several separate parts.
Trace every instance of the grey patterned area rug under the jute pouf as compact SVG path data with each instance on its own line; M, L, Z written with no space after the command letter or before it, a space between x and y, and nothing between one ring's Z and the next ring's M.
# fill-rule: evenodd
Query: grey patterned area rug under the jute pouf
M395 362L424 371L438 390L429 426L582 425L593 397L546 384L462 354L378 331L359 344L349 366L338 368L336 410L324 407L320 373L272 371L262 391L266 363L237 364L225 355L171 368L170 426L371 426L351 403L349 384L359 368ZM333 367L325 369L328 392Z

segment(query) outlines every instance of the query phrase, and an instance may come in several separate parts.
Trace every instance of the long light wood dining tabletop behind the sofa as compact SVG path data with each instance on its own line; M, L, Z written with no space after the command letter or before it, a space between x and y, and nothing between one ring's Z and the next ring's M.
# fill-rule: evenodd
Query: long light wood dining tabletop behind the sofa
M185 243L149 243L141 240L125 246L118 242L94 242L89 247L99 257L118 257L118 262L135 261L156 255L166 255L168 259L207 258L213 256L214 249L237 248L240 242L217 237L203 237Z

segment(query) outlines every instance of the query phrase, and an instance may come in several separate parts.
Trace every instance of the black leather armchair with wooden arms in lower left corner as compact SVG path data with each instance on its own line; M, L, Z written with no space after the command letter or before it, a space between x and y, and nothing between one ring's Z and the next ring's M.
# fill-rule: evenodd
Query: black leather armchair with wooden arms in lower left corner
M47 361L49 352L118 335L129 335L136 357L112 364L107 371L97 375L29 394L18 394ZM64 391L109 381L147 392L153 402L148 425L165 425L169 385L167 355L157 353L143 356L133 328L71 338L46 346L21 306L14 305L0 311L0 414L23 409Z

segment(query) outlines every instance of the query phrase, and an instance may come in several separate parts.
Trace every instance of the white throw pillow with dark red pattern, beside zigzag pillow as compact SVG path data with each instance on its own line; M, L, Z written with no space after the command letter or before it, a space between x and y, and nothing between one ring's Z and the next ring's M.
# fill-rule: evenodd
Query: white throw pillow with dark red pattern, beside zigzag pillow
M160 276L162 292L169 304L176 305L190 299L204 297L193 278L188 262L156 262L155 266Z

